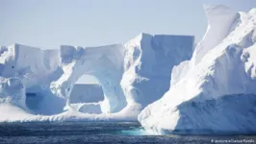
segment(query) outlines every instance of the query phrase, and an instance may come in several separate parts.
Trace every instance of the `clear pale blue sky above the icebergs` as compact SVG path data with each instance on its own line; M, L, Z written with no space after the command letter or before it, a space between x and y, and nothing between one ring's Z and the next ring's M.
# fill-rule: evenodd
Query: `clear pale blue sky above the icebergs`
M198 41L207 27L203 4L247 12L256 0L0 0L0 45L99 46L124 43L141 32ZM95 82L80 82L85 81Z

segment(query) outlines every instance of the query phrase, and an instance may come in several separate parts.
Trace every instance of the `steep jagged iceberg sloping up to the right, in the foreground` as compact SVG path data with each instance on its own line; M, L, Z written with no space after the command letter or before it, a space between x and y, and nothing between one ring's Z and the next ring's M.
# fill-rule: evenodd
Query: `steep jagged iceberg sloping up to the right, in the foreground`
M139 115L147 131L256 132L256 9L205 8L209 27L192 60L173 69L164 97Z

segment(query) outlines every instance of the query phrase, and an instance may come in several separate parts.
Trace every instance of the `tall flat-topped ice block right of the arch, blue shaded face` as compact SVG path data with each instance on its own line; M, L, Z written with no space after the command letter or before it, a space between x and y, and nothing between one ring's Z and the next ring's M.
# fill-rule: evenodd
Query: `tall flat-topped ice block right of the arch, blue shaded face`
M169 88L173 66L192 56L193 36L141 34L125 44L121 86L128 107L146 107Z

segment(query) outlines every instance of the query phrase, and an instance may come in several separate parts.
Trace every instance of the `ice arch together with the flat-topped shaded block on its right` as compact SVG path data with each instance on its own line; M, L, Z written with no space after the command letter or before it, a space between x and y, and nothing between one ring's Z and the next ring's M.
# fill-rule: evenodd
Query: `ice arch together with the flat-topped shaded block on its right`
M72 85L82 75L95 77L104 91L102 112L139 114L167 91L172 67L190 60L193 36L141 34L125 44L101 47L61 47L64 74L52 91L69 103ZM137 114L134 114L137 116Z

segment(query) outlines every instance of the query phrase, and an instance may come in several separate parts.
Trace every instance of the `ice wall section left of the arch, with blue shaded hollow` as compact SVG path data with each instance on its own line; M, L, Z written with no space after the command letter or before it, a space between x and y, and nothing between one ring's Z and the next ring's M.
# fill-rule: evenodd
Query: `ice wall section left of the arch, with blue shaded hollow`
M8 89L2 86L1 102L8 102L7 99L13 101L16 95L15 97L25 100L22 106L29 108L33 113L51 115L62 112L64 99L53 95L49 88L50 84L63 74L58 54L58 50L41 50L20 44L1 47L1 82L5 84L11 79L18 79L25 88L25 93L22 95L13 93L18 91L19 87Z

